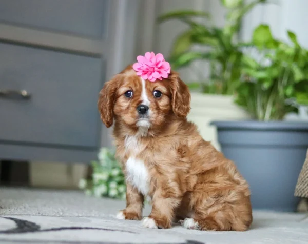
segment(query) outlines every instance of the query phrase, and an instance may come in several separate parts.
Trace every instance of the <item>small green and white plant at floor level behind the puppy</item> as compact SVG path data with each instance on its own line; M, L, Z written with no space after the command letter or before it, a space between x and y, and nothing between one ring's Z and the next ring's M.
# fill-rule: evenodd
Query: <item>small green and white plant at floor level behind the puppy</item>
M114 151L101 148L98 158L98 161L92 161L92 177L81 179L79 188L83 189L87 195L95 197L125 199L125 177L114 157Z

